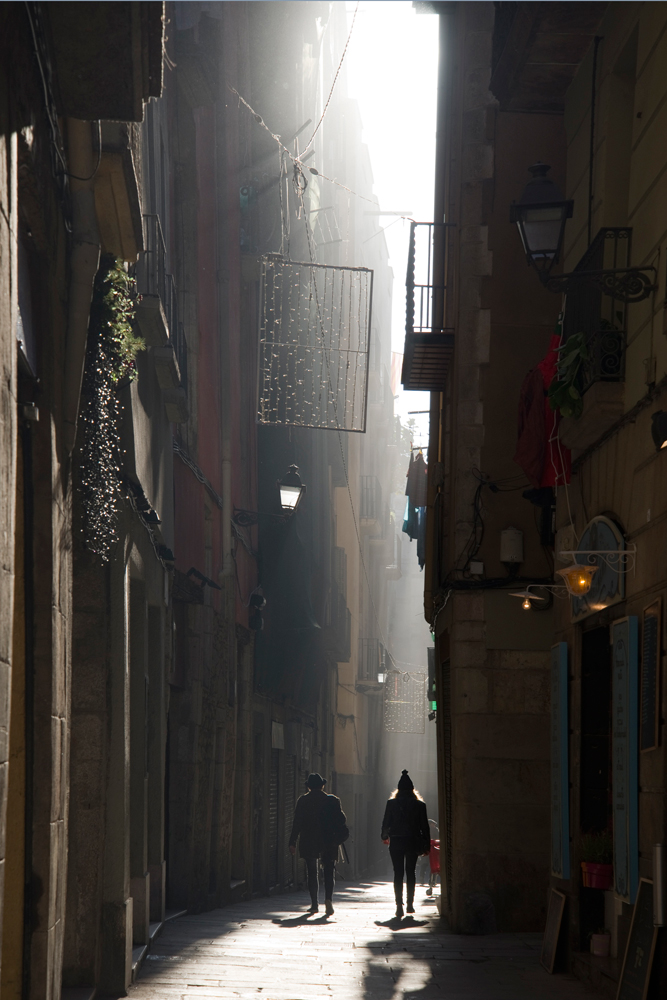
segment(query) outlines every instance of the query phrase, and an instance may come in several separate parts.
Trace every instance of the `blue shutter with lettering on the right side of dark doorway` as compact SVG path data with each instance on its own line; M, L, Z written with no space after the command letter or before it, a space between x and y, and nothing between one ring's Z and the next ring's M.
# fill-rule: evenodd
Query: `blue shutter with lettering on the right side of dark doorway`
M611 627L612 640L612 796L614 811L614 888L634 903L639 884L638 848L638 651L636 615Z

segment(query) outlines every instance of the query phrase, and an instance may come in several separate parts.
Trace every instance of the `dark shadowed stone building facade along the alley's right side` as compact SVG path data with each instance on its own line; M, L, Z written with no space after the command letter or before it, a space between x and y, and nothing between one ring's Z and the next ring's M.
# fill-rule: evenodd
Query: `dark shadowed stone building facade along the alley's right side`
M423 342L440 374L419 387L437 390L425 613L438 661L443 913L462 929L539 929L555 889L569 967L612 995L638 882L653 879L665 838L665 17L650 3L439 10L449 59L434 218L452 228L444 316ZM540 284L509 224L540 161L573 202L553 268L565 294ZM628 268L646 286L634 300L618 284ZM521 495L516 412L559 311L565 341L585 345L582 404L554 437L563 464L542 513ZM523 532L520 567L499 559L509 527ZM580 599L555 575L573 560L596 567ZM525 587L522 609L507 591ZM612 864L607 889L584 881L592 844ZM601 928L611 955L595 960L589 937ZM653 961L661 995L660 937Z

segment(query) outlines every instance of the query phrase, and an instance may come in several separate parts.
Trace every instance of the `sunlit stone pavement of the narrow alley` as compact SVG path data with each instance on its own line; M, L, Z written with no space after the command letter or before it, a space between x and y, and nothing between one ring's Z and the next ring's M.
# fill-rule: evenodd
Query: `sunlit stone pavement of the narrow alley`
M340 889L340 891L338 891ZM414 918L392 919L387 882L337 883L334 916L304 893L264 897L165 925L132 1000L584 1000L539 965L539 934L440 930L417 889Z

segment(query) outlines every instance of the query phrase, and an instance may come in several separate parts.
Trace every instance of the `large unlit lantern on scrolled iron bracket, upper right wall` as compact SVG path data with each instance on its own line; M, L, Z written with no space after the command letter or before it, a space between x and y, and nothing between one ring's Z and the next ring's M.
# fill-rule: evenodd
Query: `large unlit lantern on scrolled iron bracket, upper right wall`
M574 202L563 198L558 186L547 177L551 167L535 163L528 168L531 179L518 202L510 206L510 222L516 223L526 259L550 292L567 292L575 283L597 285L604 295L624 302L641 302L657 287L654 267L618 267L604 270L576 270L552 274L560 258L565 223L572 218Z

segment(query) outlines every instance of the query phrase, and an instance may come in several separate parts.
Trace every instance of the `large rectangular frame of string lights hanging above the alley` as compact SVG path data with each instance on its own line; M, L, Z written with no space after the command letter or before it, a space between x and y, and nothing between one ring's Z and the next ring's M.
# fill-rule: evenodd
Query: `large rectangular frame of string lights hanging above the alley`
M373 272L265 257L260 424L366 429Z

